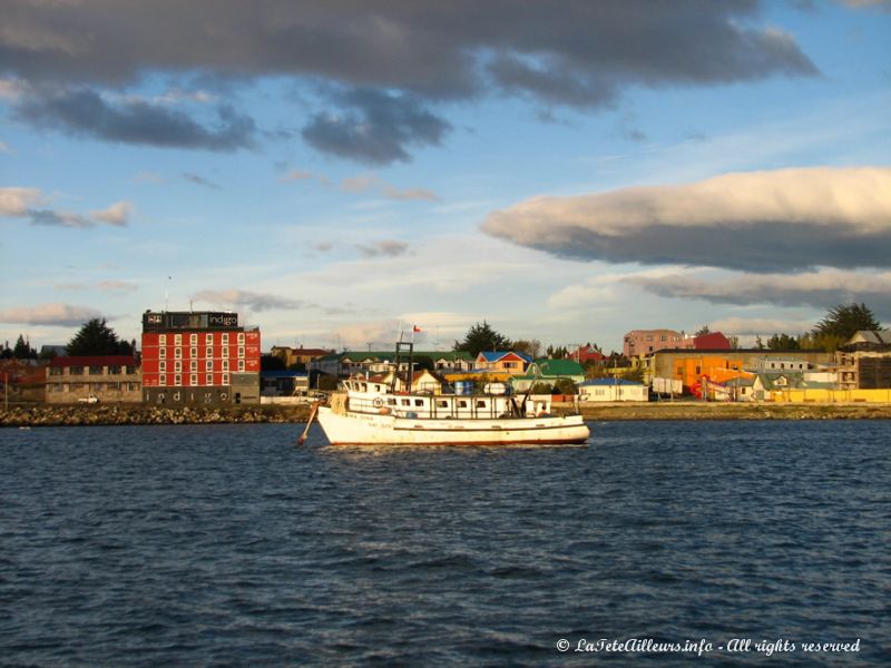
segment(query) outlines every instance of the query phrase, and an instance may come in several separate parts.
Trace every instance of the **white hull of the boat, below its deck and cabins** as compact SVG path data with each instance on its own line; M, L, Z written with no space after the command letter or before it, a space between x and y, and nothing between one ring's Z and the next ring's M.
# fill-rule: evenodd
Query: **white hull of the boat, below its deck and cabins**
M320 406L317 418L332 445L558 445L584 443L590 435L580 415L429 420Z

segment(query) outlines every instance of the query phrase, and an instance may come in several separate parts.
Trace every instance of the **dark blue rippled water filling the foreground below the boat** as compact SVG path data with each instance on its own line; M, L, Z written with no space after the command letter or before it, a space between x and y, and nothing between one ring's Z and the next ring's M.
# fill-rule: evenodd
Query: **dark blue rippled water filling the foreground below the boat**
M588 448L466 450L0 430L0 664L697 660L574 651L637 638L887 665L891 422L591 428Z

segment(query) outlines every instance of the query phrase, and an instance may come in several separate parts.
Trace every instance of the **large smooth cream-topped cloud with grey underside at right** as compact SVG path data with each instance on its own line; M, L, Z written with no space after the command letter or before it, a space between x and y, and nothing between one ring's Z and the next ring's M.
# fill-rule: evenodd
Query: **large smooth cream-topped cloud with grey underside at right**
M748 272L891 267L891 168L727 174L682 186L536 197L483 232L555 255Z

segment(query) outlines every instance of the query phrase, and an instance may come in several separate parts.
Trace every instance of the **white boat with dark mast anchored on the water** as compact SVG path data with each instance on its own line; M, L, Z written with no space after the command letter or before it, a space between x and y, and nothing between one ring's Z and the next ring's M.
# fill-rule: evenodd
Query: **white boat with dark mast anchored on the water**
M411 348L409 348L409 370ZM341 383L312 418L332 445L508 445L581 444L590 431L581 415L555 415L550 395L512 394L499 383L454 383L438 391L409 391L400 383L400 351L389 381L353 376ZM488 386L487 386L488 385Z

